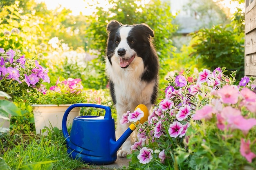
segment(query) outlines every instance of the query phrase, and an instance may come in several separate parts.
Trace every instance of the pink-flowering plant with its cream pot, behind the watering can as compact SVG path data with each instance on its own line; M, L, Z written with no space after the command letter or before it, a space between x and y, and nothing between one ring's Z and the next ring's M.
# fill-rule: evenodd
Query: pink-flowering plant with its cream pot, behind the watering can
M84 103L86 93L83 91L81 79L64 79L56 82L55 86L46 90L45 93L33 94L29 96L29 103L33 107L36 133L40 134L41 130L57 127L61 129L62 118L69 106L76 103ZM80 108L73 108L67 118L69 126L74 117L79 116ZM46 134L45 130L43 134Z

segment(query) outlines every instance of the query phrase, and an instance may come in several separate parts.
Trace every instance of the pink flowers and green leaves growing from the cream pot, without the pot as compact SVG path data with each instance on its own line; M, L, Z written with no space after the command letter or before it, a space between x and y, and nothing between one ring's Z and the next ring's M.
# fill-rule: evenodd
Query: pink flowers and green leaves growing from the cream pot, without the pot
M59 79L55 86L49 88L38 96L31 95L31 104L75 104L83 103L86 100L86 94L83 91L81 79L68 78L63 81Z

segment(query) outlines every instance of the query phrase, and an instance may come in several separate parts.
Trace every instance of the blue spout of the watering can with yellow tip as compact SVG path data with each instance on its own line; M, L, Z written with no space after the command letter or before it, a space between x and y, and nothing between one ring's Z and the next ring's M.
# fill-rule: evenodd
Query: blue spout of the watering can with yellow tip
M135 129L136 126L134 124L130 124L129 128L123 133L123 135L121 135L121 137L117 141L110 139L110 155L115 155L117 153L117 150L119 150L122 144L124 144L126 139Z

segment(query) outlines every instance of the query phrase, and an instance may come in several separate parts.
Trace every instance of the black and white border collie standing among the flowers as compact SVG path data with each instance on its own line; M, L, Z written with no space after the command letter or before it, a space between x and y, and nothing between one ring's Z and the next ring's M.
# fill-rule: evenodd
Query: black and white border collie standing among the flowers
M107 25L106 73L110 93L117 109L117 137L128 128L121 125L124 113L134 112L139 104L150 110L157 99L159 61L152 44L154 32L146 24L123 25L112 20ZM118 157L131 153L135 137L129 137L117 152Z

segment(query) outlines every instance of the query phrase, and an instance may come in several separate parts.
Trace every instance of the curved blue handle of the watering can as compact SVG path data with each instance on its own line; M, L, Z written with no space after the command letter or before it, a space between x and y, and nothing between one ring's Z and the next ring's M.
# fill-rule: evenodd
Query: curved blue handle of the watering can
M66 139L66 142L70 142L70 135L67 132L67 116L70 113L70 111L75 108L75 107L94 107L94 108L102 108L106 111L104 119L110 120L112 119L111 116L111 109L109 106L104 106L101 104L90 104L90 103L77 103L77 104L72 104L71 106L69 106L67 108L67 110L65 111L64 115L63 115L63 119L62 119L62 132L64 135L64 138Z

